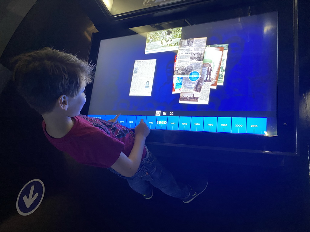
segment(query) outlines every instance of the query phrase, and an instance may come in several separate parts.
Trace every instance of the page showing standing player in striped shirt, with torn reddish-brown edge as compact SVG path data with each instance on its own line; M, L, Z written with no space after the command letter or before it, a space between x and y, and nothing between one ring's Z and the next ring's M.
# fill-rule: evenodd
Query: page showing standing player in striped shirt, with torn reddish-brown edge
M217 47L216 45L207 45L206 47L202 75L205 82L211 82L210 88L217 86L223 51L224 47Z

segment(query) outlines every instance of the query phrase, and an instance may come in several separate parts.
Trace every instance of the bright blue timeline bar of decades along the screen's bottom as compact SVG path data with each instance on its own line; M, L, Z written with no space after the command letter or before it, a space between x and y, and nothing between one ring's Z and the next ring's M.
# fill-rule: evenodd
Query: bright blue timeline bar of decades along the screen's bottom
M116 115L90 114L88 116L110 120L115 118ZM157 130L241 134L264 134L267 131L267 118L121 115L118 122L128 128L135 128L141 119L150 129Z

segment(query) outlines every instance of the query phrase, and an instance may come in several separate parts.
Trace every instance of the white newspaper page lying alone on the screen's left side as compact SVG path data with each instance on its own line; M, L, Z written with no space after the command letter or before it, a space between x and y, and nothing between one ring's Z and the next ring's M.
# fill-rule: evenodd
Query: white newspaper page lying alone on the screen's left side
M151 96L156 59L135 60L129 96Z

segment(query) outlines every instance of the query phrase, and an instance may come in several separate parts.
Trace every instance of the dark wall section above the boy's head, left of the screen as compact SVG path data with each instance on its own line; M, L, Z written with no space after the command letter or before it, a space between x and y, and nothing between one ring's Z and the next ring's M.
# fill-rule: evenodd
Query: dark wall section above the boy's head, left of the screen
M0 63L10 67L10 58L45 46L87 59L93 23L73 1L38 0L4 50Z

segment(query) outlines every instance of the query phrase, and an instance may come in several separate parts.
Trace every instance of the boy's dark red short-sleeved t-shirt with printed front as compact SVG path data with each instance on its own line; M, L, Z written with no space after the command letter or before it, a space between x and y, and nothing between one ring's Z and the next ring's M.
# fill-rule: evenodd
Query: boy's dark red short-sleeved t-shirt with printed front
M121 152L129 156L135 142L135 133L131 129L85 115L74 119L71 130L60 139L47 134L46 124L42 122L45 136L57 149L68 153L79 163L102 168L111 167ZM142 159L145 155L144 147Z

